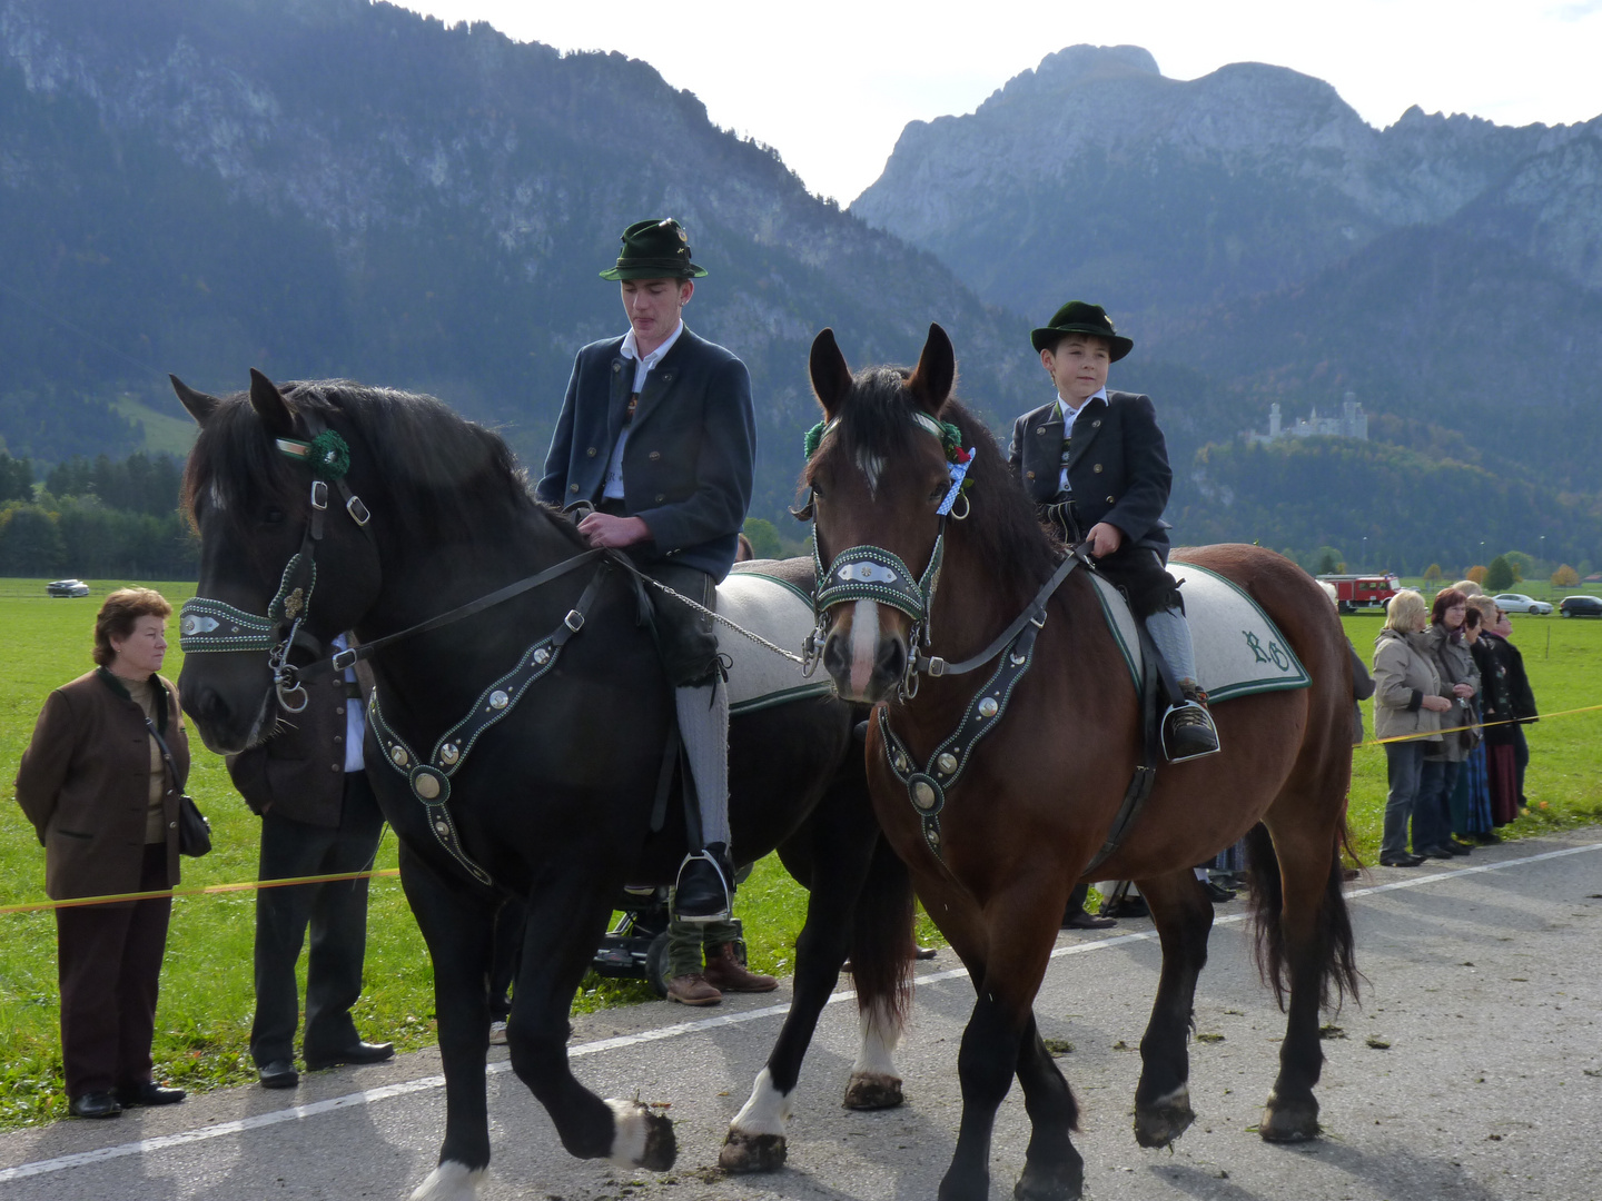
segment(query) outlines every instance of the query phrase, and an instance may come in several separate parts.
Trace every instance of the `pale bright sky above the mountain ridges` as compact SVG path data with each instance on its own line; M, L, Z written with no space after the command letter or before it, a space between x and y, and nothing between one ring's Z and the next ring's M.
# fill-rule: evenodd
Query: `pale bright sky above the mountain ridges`
M1334 85L1375 127L1410 104L1501 125L1602 114L1602 0L1036 0L891 3L405 0L521 42L615 50L779 149L820 195L871 184L910 120L972 112L1064 46L1145 46L1169 78L1272 62Z

